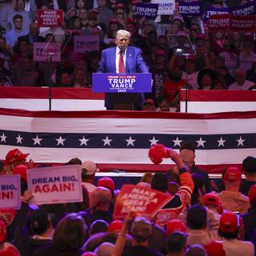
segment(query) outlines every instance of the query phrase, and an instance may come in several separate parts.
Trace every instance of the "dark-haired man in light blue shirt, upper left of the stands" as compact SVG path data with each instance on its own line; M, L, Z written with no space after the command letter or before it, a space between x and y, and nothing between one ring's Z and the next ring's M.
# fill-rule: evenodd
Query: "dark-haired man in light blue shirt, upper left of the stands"
M23 17L22 15L16 14L13 18L14 28L6 32L6 43L10 47L14 47L19 37L27 34L26 30L22 29Z

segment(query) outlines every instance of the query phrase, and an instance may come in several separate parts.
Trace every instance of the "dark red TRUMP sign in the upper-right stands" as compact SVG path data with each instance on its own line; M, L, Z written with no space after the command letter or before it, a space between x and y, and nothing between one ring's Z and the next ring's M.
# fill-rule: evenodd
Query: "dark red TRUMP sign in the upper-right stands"
M211 15L208 20L209 31L229 31L230 14Z

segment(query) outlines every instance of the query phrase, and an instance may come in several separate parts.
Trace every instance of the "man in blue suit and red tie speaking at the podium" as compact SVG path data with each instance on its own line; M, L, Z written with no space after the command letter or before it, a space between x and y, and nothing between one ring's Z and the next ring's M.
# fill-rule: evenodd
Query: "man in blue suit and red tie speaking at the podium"
M142 51L137 47L128 46L130 42L130 32L118 30L115 42L116 47L102 51L102 59L99 63L98 73L150 73L146 63L143 61ZM120 94L116 94L116 98L119 96ZM138 94L138 96L141 95ZM113 109L111 103L113 98L114 95L106 94L105 106L107 109ZM142 104L142 97L137 98L134 109L138 109L140 104Z

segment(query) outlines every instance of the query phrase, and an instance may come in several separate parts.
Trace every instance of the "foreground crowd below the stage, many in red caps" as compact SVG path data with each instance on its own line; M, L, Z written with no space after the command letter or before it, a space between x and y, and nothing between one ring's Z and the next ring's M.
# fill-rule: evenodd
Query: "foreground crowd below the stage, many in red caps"
M245 158L243 170L228 167L216 184L196 166L190 143L184 142L179 154L168 154L174 167L146 173L136 186L168 194L170 201L151 218L131 211L114 219L118 184L110 177L96 180L99 170L93 161L72 158L66 163L81 166L82 202L34 206L26 179L34 163L27 161L28 154L10 150L0 171L20 174L22 206L0 209L0 255L254 256L256 158Z

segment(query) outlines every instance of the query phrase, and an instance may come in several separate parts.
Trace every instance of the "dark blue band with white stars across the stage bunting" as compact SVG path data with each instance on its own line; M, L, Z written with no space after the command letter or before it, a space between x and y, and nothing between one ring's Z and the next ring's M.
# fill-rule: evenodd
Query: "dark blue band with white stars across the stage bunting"
M0 130L0 145L50 148L138 148L155 143L178 149L183 141L197 150L256 148L256 134L58 134Z

